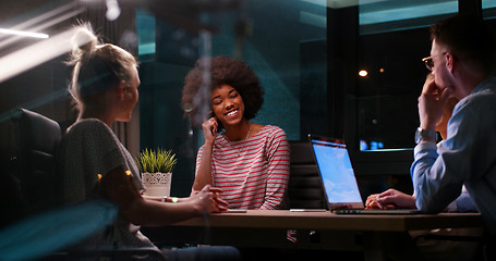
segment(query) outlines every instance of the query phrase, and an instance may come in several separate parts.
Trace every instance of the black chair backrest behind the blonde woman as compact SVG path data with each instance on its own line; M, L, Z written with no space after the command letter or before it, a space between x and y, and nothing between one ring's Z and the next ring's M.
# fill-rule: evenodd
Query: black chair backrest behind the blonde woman
M13 174L17 178L27 214L57 207L59 176L56 150L62 138L57 122L26 109L12 111L15 125Z

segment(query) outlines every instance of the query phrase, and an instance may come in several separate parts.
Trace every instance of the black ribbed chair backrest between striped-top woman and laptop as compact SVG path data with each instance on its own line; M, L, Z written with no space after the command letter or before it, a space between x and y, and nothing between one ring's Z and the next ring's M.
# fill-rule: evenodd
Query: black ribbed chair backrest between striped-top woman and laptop
M317 164L309 141L290 140L289 204L291 209L325 209Z

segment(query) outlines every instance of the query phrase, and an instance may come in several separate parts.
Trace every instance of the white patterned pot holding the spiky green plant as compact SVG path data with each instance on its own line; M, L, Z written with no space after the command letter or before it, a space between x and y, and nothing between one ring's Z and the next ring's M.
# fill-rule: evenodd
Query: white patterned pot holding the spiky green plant
M145 186L145 195L154 197L169 197L170 184L172 183L172 173L142 173L142 182Z

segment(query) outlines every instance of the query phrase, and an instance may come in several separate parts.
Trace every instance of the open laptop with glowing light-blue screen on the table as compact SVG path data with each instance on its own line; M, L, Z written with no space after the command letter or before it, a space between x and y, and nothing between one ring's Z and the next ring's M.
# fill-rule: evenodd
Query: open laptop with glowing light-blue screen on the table
M339 214L411 214L412 209L365 210L347 145L309 134L329 210Z

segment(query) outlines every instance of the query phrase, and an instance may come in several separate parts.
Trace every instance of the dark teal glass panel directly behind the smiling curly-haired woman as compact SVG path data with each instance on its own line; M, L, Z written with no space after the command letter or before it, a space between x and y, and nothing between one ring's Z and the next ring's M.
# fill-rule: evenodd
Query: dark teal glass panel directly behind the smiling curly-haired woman
M234 57L253 67L265 90L253 122L279 126L290 140L326 133L325 1L244 1L197 17L197 27L187 28L149 10L136 12L141 148L177 152L172 189L182 190L176 195L189 194L204 144L180 105L184 76L199 57Z

